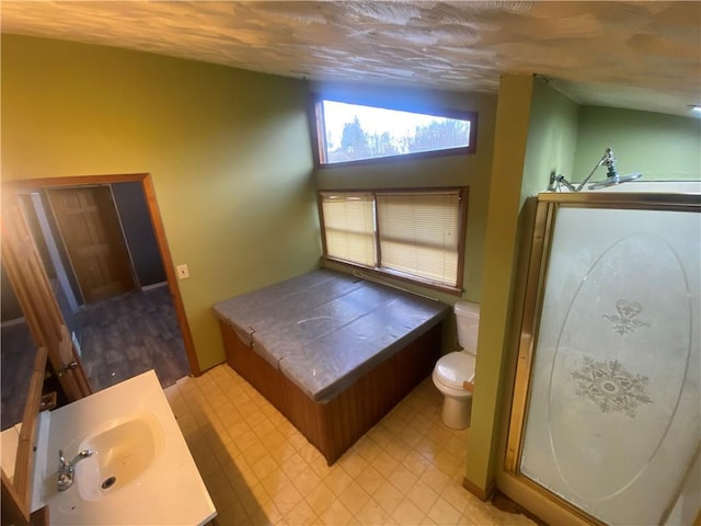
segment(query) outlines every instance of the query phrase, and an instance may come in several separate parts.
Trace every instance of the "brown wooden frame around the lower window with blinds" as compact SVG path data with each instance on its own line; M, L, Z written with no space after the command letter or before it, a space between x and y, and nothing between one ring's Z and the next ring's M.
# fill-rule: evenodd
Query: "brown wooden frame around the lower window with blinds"
M445 285L440 283L433 282L430 279L426 279L420 276L414 276L411 274L406 274L403 272L394 271L391 268L387 268L382 266L382 253L380 251L380 232L379 225L376 226L377 230L375 232L375 245L377 251L378 264L377 266L366 266L360 263L355 263L352 261L342 260L338 258L334 258L329 255L327 247L326 247L326 236L325 236L325 225L324 225L324 215L323 215L323 198L325 194L338 193L338 194L352 194L352 193L368 193L372 194L374 199L377 199L378 194L382 193L416 193L416 194L428 194L435 192L457 192L459 195L460 204L459 204L459 217L458 225L460 228L460 232L458 236L458 268L457 268L457 283L455 286ZM468 207L469 207L469 186L432 186L432 187L409 187L409 188L361 188L361 190L322 190L317 193L317 202L319 206L319 219L321 224L321 243L323 249L322 259L324 261L333 262L335 264L345 266L350 270L367 272L377 277L390 277L392 279L398 279L401 282L410 283L413 285L420 285L422 287L426 287L433 290L438 290L441 293L450 294L453 296L461 296L463 293L463 283L464 283L464 252L466 252L466 238L468 231ZM376 201L377 203L377 201Z

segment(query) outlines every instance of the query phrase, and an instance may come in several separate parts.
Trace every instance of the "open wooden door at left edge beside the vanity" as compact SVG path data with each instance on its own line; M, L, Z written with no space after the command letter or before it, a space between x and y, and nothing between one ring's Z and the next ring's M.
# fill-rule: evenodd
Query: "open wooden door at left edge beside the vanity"
M91 393L16 196L3 194L2 259L36 344L46 347L50 369L69 401Z

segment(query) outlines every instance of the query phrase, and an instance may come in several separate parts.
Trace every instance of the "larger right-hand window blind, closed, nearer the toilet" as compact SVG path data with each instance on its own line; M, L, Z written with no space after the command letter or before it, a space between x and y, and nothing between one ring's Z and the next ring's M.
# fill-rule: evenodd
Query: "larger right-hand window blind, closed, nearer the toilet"
M382 267L457 285L458 191L378 193L377 218Z

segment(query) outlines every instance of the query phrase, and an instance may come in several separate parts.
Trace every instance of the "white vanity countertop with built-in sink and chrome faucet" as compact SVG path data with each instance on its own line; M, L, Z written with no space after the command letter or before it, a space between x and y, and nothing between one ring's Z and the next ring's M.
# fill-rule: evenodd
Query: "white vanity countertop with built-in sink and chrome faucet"
M216 516L153 370L49 416L32 507L48 504L51 525L202 525ZM59 492L58 451L72 459L85 448L95 453L77 462L73 485Z

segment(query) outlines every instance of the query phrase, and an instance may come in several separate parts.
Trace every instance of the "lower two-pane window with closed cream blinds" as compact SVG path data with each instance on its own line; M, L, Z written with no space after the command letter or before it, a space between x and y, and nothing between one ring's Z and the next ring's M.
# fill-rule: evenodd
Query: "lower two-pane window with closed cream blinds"
M461 288L467 187L320 195L324 255Z

